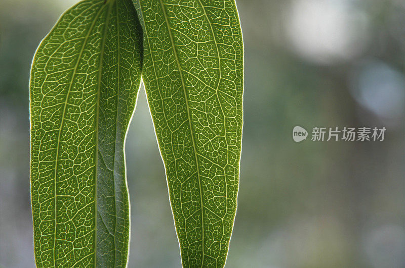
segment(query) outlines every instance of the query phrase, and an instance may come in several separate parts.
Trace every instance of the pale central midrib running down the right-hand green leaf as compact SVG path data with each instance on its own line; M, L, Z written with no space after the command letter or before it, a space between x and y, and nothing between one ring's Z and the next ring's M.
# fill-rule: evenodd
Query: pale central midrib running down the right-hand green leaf
M203 267L204 255L205 255L205 252L204 252L204 204L203 204L203 192L202 192L202 189L201 189L201 178L200 178L200 174L199 174L197 150L196 150L196 147L195 147L194 132L193 132L193 129L192 129L192 126L191 126L190 107L189 107L189 104L188 104L188 96L187 96L187 91L186 91L185 84L184 84L183 72L182 72L182 68L180 66L179 58L178 58L178 55L177 55L177 50L176 50L176 47L175 47L175 44L174 44L174 39L173 39L173 36L172 36L172 30L171 30L171 27L170 27L170 24L169 24L168 16L166 14L165 5L163 4L162 0L159 0L159 3L160 3L160 6L161 6L161 9L163 11L163 16L165 17L166 25L168 27L170 41L172 43L173 53L174 53L174 56L175 56L175 59L176 59L177 68L179 70L181 84L182 84L183 92L184 92L184 98L185 98L185 102L186 102L187 117L188 117L188 122L189 122L189 127L190 127L191 141L192 141L192 144L193 144L195 165L196 165L196 168L197 168L199 197L200 197L200 202L201 202L201 248L203 249L203 252L202 252L203 253L202 254L203 258L201 259L201 267ZM184 217L184 215L183 215L183 217Z

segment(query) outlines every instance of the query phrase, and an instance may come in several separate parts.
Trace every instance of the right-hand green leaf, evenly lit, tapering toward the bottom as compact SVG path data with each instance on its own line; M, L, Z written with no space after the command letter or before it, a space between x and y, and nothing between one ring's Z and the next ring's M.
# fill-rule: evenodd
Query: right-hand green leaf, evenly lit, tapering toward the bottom
M139 0L145 83L185 267L225 265L236 212L243 43L234 0Z

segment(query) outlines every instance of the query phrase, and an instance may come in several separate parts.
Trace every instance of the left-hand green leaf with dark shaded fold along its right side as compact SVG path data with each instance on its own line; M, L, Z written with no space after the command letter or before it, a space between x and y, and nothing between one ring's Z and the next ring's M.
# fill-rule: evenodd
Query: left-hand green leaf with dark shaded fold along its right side
M31 201L38 267L123 267L130 235L124 144L140 85L131 0L66 11L32 62Z

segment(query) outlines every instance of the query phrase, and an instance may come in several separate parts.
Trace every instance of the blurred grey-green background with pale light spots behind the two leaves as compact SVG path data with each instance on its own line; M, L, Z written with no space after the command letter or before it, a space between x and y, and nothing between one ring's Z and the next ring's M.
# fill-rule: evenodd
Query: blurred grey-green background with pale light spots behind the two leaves
M74 0L0 1L0 266L34 267L31 59ZM228 267L405 267L405 2L237 0L245 124ZM386 127L383 142L292 129ZM127 137L130 267L180 267L145 93Z

